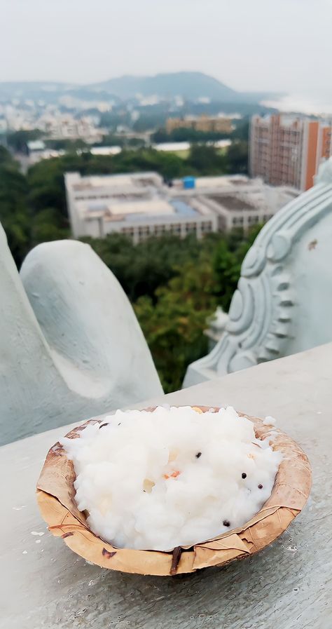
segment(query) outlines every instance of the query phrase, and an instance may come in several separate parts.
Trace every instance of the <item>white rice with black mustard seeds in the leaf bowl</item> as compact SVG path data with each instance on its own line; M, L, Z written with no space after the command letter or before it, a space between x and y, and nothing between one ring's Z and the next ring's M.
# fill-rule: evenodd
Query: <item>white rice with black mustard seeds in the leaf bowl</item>
M250 520L271 494L281 454L232 407L117 411L62 443L88 525L118 548L191 546Z

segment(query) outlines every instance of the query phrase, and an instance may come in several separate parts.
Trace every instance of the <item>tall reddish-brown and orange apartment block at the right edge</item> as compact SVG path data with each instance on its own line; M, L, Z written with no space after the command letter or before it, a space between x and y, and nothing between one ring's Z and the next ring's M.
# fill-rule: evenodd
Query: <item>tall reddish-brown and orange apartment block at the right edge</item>
M274 186L307 190L319 163L332 154L331 123L286 114L253 116L249 171Z

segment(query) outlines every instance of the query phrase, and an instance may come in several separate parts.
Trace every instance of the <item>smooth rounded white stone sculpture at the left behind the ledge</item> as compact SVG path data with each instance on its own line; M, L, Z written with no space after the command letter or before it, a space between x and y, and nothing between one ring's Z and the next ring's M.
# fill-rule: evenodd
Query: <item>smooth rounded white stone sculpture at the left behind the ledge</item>
M132 306L88 245L27 255L0 225L0 444L160 395Z

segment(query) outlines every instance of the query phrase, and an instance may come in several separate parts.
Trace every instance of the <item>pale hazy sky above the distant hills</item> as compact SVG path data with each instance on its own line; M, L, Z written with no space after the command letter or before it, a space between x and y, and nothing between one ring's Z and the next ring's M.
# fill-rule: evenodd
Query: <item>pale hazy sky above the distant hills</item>
M0 0L0 81L200 70L332 102L332 0Z

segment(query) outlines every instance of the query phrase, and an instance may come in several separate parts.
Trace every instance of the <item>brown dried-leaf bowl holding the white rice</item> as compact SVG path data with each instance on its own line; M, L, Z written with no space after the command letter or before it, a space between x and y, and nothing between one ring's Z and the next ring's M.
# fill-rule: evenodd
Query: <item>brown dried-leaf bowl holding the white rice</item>
M194 408L204 413L210 407ZM218 411L219 407L214 410ZM242 527L196 543L190 548L178 546L169 553L116 548L93 533L88 527L85 513L78 510L74 465L67 459L60 442L57 442L48 451L36 487L39 509L48 529L53 535L62 537L64 543L85 560L103 568L136 574L184 574L254 555L277 539L303 509L310 494L312 475L306 454L293 439L261 419L244 413L239 415L253 422L256 438L268 439L272 448L283 455L269 499ZM66 436L78 438L85 426L102 421L97 418L85 421Z

